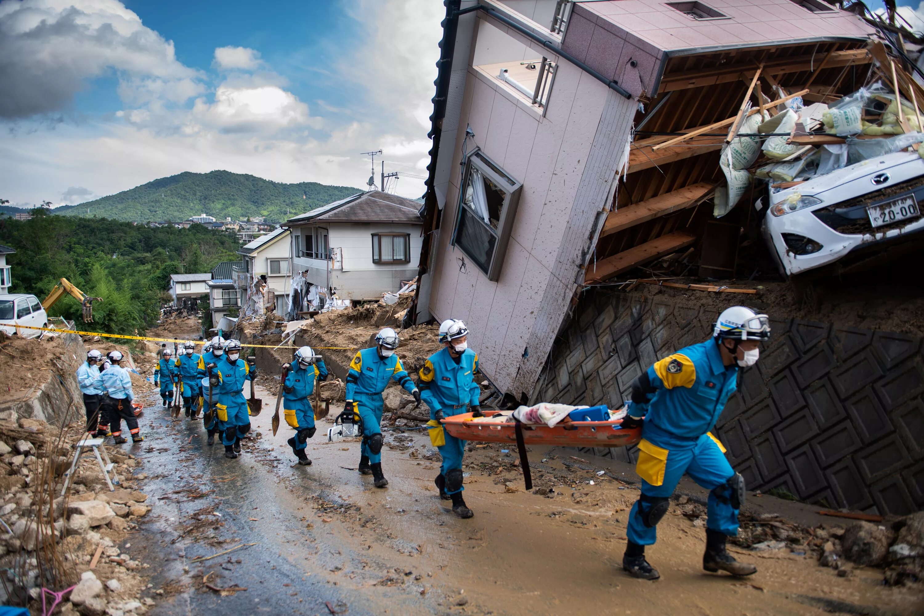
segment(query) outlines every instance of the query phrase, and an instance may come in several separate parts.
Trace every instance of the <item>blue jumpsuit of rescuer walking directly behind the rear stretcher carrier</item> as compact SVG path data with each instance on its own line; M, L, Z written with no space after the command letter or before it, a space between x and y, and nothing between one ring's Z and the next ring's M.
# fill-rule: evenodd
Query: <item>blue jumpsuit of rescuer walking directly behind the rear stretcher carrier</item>
M413 393L417 389L414 381L407 376L398 356L393 354L383 359L379 356L378 347L375 346L359 351L350 362L349 372L346 374L346 400L352 400L359 406L359 417L362 418L361 452L369 457L369 462L373 465L382 462L382 452L372 453L369 439L373 434L382 433L382 393L388 386L389 379L394 379L407 390L407 393Z

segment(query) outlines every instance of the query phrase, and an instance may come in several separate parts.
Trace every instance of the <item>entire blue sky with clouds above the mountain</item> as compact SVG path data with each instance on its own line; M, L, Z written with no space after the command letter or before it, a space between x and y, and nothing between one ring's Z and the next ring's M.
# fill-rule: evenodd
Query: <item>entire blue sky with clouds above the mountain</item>
M0 197L79 203L183 171L424 175L439 0L0 0ZM379 166L379 163L376 163ZM406 177L397 192L419 197Z

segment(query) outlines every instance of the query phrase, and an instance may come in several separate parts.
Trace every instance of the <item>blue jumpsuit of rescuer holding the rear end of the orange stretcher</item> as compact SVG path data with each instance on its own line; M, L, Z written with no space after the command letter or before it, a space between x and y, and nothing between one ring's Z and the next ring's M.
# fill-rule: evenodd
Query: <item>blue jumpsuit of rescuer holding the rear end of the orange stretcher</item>
M468 412L469 405L479 405L481 390L475 382L477 371L478 354L471 349L453 358L449 355L449 349L443 348L427 359L423 368L420 368L420 398L430 406L431 419L436 419L437 411L443 411L443 417L453 417ZM466 442L448 432L445 433L445 439L446 444L437 448L443 456L440 472L444 477L450 470L462 469ZM463 489L449 489L447 486L446 493L455 494Z

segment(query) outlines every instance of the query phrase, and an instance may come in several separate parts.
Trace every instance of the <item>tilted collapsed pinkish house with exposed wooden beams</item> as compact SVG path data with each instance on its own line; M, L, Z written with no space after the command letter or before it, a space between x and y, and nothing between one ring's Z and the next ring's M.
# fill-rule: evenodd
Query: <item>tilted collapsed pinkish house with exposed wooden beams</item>
M445 4L414 317L465 320L521 400L585 282L704 233L723 139L656 145L735 116L759 66L807 103L869 67L869 26L821 0Z

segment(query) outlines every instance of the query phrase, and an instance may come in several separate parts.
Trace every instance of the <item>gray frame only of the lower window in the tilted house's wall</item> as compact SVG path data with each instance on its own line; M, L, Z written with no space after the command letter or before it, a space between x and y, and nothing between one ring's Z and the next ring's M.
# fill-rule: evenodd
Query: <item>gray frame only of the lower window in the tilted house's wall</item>
M501 270L504 266L504 257L507 251L507 245L510 243L510 234L513 231L514 221L517 218L517 206L519 205L520 193L522 192L523 183L518 181L515 177L508 174L501 165L492 161L491 157L481 151L480 148L476 148L473 151L468 152L468 155L465 157L464 171L462 174L462 184L459 187L458 201L456 203L456 223L453 227L453 236L452 236L452 245L459 250L461 250L469 260L477 267L480 272L484 273L488 280L492 283L496 283L500 280ZM501 212L501 217L497 222L497 230L495 231L490 224L484 223L481 220L479 214L475 211L472 211L465 205L465 194L466 187L468 186L468 178L471 175L471 169L475 167L478 169L481 175L484 175L492 181L492 183L501 189L505 193L503 211ZM462 211L463 208L468 213L468 216L474 220L475 223L480 223L483 225L489 233L491 233L496 241L494 242L494 249L491 254L491 258L488 262L487 268L482 268L478 257L473 257L468 249L459 242L458 232L459 226L462 222Z

